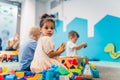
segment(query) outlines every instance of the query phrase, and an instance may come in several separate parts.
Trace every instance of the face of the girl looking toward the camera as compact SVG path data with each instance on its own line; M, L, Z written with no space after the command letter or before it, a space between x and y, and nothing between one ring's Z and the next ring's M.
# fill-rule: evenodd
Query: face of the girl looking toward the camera
M52 36L54 33L54 24L53 22L46 22L41 28L41 33L43 36Z

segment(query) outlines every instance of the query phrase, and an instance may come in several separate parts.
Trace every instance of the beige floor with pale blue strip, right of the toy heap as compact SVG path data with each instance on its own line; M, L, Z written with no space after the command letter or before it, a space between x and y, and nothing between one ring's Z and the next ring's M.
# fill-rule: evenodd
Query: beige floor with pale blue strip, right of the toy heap
M90 61L96 65L100 78L93 80L120 80L120 62Z

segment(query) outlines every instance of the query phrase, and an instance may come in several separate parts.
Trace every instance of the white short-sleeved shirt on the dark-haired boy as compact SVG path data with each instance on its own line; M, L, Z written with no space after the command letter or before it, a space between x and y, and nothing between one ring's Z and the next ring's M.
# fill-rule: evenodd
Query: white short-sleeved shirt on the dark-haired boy
M76 46L72 41L68 41L66 45L66 56L77 56L77 50L74 49Z

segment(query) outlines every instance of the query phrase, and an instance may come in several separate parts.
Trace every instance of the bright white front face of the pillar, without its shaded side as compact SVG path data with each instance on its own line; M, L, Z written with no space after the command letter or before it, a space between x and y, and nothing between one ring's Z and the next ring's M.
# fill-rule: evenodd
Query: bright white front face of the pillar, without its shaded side
M29 29L35 25L35 0L25 0L21 10L20 44L25 42Z

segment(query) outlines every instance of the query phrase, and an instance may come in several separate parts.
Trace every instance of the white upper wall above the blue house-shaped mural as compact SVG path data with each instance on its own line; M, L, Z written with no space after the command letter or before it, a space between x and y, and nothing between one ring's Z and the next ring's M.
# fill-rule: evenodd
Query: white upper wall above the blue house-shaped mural
M64 1L64 0L63 0ZM75 17L88 20L88 36L94 36L94 25L105 15L110 14L120 17L120 0L66 0L63 4L54 9L50 9L50 3L47 4L49 13L59 12L59 18L64 21L64 31L66 25Z

